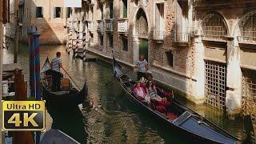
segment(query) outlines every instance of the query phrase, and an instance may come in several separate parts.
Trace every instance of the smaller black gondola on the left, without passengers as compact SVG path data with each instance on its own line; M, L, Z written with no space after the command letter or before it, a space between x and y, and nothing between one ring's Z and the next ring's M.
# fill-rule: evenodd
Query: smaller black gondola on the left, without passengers
M61 88L60 91L50 90L50 61L46 58L46 62L42 66L41 70L41 83L42 83L42 98L46 100L46 107L63 107L63 106L78 106L86 100L87 86L86 82L82 90L77 90L74 86Z

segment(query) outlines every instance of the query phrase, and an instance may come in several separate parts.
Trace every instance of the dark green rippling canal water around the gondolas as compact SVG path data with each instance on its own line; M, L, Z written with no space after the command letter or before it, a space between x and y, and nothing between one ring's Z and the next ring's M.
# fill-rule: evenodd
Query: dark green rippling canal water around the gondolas
M12 63L14 46L4 50L4 63ZM86 80L90 106L83 106L82 121L70 121L62 118L63 125L74 127L66 130L79 142L87 143L190 143L190 139L178 135L178 132L156 121L145 111L138 109L125 96L124 91L113 81L111 65L106 62L82 62L66 53L65 46L40 46L41 66L46 57L54 58L57 51L62 53L62 65L80 87ZM20 44L18 62L21 63L25 78L29 78L29 50L26 44ZM64 74L65 75L65 74ZM111 82L108 86L106 83ZM194 106L182 100L199 114L218 124L231 134L242 137L242 122L226 120L222 111L209 106ZM65 112L60 112L65 113ZM66 111L74 113L74 111ZM72 117L75 117L75 113ZM79 117L80 118L80 117ZM73 118L74 119L74 118ZM54 126L53 126L54 127ZM55 127L56 122L55 122ZM79 127L79 128L78 128ZM84 127L84 130L80 130ZM78 128L78 129L76 129ZM62 128L65 131L65 128ZM74 136L75 135L75 136ZM80 139L79 139L80 138ZM81 140L86 138L86 140Z

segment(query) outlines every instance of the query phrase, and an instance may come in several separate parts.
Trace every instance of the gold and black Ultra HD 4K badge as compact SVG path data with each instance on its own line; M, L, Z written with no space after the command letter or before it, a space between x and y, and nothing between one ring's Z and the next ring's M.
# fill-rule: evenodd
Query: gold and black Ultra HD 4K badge
M45 129L44 101L3 101L3 130L33 130Z

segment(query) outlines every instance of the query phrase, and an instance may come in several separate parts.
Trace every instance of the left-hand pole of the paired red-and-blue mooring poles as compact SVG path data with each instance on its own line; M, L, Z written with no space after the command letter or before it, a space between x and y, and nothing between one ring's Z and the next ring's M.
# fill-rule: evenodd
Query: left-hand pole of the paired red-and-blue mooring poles
M30 96L35 97L35 83L34 83L34 29L31 27L30 31Z

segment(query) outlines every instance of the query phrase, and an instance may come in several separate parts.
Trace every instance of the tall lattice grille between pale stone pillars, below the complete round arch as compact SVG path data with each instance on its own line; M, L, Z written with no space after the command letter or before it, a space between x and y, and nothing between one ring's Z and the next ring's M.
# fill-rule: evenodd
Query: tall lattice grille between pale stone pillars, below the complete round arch
M225 109L226 65L206 61L206 103L218 109Z

